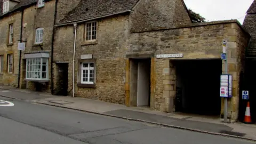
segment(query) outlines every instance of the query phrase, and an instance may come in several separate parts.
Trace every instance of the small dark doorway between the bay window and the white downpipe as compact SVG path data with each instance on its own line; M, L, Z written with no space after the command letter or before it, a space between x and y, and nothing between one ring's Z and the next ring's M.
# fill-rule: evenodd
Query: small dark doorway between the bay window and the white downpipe
M68 95L68 63L57 63L57 83L55 86L56 95Z

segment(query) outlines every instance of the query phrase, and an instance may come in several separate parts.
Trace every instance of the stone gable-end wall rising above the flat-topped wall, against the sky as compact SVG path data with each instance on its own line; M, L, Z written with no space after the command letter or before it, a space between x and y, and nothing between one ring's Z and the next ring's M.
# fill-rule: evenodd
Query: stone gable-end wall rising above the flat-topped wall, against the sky
M130 15L131 31L170 28L191 23L183 0L141 0Z

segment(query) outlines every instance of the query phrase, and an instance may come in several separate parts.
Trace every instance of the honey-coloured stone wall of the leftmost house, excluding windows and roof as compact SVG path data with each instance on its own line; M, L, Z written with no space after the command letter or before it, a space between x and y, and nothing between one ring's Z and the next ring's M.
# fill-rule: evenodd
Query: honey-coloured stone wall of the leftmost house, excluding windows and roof
M13 23L13 43L9 44L9 25ZM0 84L18 86L19 51L21 12L6 15L0 22L0 55L4 57L3 73L0 74ZM13 54L13 72L7 73L7 54Z

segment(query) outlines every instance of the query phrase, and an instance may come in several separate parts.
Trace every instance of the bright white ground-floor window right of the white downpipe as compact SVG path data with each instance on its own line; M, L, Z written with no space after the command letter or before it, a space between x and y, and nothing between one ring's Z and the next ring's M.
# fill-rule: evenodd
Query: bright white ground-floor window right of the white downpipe
M81 83L94 84L94 63L84 62L81 68Z

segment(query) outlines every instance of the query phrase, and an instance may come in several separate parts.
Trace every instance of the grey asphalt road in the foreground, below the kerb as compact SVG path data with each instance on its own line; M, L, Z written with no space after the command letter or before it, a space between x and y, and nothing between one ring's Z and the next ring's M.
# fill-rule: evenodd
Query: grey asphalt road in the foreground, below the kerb
M0 106L0 143L253 143L38 105L29 101L3 97L0 97L0 100L14 103L14 106L10 107Z

